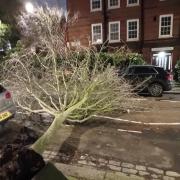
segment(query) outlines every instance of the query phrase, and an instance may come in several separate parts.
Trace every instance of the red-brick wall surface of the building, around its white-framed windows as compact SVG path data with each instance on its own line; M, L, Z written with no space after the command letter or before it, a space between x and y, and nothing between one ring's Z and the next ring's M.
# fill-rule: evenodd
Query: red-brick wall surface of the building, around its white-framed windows
M108 4L108 0L102 0ZM173 65L180 58L180 0L140 0L140 5L127 7L126 0L120 0L120 8L91 12L90 0L67 0L67 8L71 15L78 12L79 18L73 27L69 29L69 41L80 40L82 45L87 46L91 40L91 24L105 23L106 36L108 37L108 22L120 21L121 42L112 43L110 46L120 47L124 44L135 52L142 52L146 61L151 63L152 48L173 47ZM143 5L143 6L142 6ZM103 5L102 5L103 7ZM173 14L173 37L159 38L159 16ZM139 19L139 41L127 42L127 19ZM103 29L105 31L105 29Z

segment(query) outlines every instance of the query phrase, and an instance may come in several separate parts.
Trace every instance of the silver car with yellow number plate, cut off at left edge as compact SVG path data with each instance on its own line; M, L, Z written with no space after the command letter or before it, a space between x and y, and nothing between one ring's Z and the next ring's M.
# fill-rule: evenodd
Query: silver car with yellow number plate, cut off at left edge
M12 101L11 93L0 85L0 126L15 115L16 108Z

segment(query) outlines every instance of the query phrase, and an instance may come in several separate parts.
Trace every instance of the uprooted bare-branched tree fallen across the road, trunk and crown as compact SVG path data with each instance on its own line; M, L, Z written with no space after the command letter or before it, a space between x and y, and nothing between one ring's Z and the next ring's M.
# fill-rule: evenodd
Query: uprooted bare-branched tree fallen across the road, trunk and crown
M98 56L92 62L93 51L83 49L84 57L79 61L79 53L64 45L68 22L56 9L23 14L23 34L36 32L30 34L31 45L38 51L27 47L15 53L5 66L6 83L17 105L25 112L46 112L54 117L48 130L32 145L38 153L43 152L66 119L84 122L94 114L134 108L136 104L130 86L112 67L104 66Z

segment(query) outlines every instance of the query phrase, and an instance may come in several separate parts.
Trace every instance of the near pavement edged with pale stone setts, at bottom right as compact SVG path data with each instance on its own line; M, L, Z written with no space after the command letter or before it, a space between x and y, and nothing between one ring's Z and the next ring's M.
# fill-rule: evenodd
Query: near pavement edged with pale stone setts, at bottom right
M54 155L51 152L48 157L54 160L55 167L69 180L71 177L78 180L178 180L180 178L178 172L114 160L107 161L103 158L87 160L85 156L81 156L76 164L57 163ZM46 155L44 157L47 158Z

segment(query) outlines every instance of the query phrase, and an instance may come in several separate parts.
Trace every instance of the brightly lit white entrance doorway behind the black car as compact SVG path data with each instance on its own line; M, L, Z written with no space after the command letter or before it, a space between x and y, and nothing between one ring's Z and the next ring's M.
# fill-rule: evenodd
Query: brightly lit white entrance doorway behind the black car
M166 71L172 70L172 53L153 54L152 64L163 67Z

